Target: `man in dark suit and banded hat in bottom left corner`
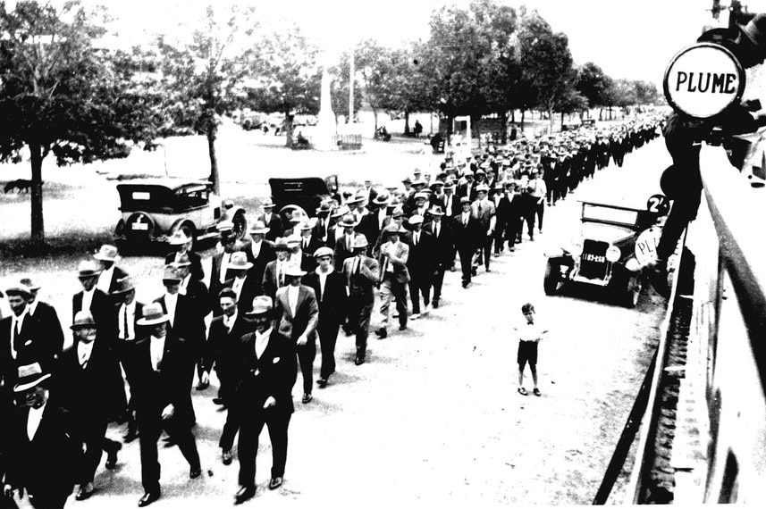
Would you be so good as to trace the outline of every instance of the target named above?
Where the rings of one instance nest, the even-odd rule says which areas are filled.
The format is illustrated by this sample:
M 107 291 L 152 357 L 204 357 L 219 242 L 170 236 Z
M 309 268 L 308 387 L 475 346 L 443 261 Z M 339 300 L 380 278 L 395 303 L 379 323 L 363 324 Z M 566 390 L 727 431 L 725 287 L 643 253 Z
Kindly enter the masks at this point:
M 81 441 L 69 412 L 49 399 L 54 379 L 39 363 L 19 366 L 13 392 L 21 405 L 11 415 L 11 447 L 4 496 L 23 490 L 37 509 L 61 509 L 72 494 Z

